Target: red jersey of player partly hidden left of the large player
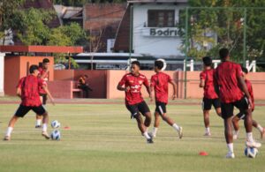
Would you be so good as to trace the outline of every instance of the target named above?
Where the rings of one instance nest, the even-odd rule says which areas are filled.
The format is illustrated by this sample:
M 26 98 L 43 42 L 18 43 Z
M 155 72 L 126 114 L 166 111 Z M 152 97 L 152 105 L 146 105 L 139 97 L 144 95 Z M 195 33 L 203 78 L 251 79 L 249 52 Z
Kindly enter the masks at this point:
M 215 84 L 214 84 L 214 69 L 211 70 L 205 70 L 201 71 L 200 73 L 200 79 L 205 80 L 205 85 L 203 87 L 204 98 L 207 99 L 217 99 L 218 95 L 215 90 Z

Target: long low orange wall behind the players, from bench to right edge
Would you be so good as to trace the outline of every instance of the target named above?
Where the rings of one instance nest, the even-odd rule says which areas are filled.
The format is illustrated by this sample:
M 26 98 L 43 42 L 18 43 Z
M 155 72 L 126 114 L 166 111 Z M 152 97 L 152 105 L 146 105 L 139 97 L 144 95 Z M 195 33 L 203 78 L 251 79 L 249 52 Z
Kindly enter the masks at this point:
M 185 96 L 184 90 L 184 79 L 185 73 L 183 71 L 164 71 L 168 73 L 172 79 L 177 83 L 177 95 L 179 99 L 183 99 Z M 203 96 L 203 89 L 199 87 L 200 82 L 200 72 L 201 71 L 187 71 L 187 98 L 199 98 Z M 77 80 L 81 74 L 88 75 L 88 82 L 90 86 L 94 89 L 91 93 L 91 98 L 107 98 L 107 99 L 117 99 L 124 98 L 125 93 L 117 90 L 117 83 L 125 75 L 126 71 L 55 71 L 55 79 L 61 79 L 64 81 Z M 154 71 L 141 71 L 142 74 L 146 75 L 148 79 L 155 74 Z M 265 100 L 265 72 L 251 72 L 248 78 L 253 83 L 254 87 L 254 97 L 256 100 Z M 59 86 L 61 85 L 53 85 Z M 66 86 L 66 85 L 65 85 Z M 67 85 L 68 86 L 68 85 Z M 50 86 L 49 86 L 49 89 Z M 69 91 L 68 91 L 69 92 Z M 143 86 L 141 90 L 144 97 L 148 97 L 148 93 Z M 172 95 L 172 86 L 169 86 L 169 96 Z M 69 97 L 69 96 L 68 96 Z

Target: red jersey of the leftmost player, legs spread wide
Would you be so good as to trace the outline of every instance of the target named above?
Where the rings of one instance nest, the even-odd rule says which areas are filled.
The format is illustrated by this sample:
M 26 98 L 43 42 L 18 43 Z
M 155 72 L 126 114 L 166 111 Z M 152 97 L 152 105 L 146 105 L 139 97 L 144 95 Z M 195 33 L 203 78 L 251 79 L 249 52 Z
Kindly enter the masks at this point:
M 41 86 L 43 86 L 43 80 L 33 75 L 20 79 L 17 87 L 21 89 L 21 104 L 28 107 L 40 106 L 42 102 L 39 87 Z

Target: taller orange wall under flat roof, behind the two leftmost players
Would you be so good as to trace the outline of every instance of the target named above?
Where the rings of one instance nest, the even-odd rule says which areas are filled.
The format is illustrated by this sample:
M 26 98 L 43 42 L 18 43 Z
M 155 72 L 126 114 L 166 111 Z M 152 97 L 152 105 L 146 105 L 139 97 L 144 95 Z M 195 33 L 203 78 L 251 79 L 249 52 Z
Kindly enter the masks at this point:
M 32 64 L 39 65 L 43 58 L 49 58 L 49 80 L 54 79 L 52 56 L 5 56 L 4 57 L 4 93 L 16 95 L 16 86 L 19 79 L 27 76 L 27 67 Z M 27 64 L 28 63 L 28 64 Z

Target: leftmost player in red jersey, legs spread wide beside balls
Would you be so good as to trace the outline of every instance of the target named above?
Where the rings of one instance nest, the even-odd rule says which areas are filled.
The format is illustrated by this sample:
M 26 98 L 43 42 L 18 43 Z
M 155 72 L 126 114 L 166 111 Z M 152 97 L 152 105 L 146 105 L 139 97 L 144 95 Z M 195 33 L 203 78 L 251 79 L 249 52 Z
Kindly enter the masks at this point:
M 45 84 L 43 84 L 43 80 L 38 78 L 38 66 L 31 65 L 29 72 L 30 75 L 19 80 L 17 94 L 21 98 L 21 103 L 15 115 L 11 117 L 6 134 L 4 136 L 4 140 L 11 139 L 11 131 L 13 130 L 15 123 L 18 121 L 19 117 L 25 116 L 29 110 L 33 110 L 39 116 L 43 116 L 42 136 L 49 139 L 49 134 L 47 132 L 49 116 L 48 112 L 42 106 L 39 96 L 39 87 L 43 87 L 43 89 L 49 95 L 50 101 L 52 103 L 54 103 L 54 101 L 49 93 L 49 90 L 46 88 Z

